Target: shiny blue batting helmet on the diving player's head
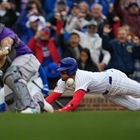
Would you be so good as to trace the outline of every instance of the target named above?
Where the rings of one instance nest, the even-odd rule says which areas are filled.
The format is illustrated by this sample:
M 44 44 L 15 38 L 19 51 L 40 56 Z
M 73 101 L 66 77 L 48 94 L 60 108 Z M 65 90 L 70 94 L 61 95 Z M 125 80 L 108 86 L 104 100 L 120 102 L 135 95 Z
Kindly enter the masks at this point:
M 67 71 L 67 74 L 69 76 L 72 76 L 76 73 L 78 66 L 77 66 L 77 62 L 74 58 L 71 57 L 67 57 L 64 58 L 60 61 L 59 65 L 58 65 L 58 71 Z

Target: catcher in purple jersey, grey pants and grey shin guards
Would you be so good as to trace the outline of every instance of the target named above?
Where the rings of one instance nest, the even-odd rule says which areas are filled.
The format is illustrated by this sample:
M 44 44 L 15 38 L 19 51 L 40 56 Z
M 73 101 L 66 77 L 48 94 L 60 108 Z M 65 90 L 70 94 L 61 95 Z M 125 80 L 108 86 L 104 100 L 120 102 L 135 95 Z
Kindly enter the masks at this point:
M 8 48 L 8 49 L 7 49 Z M 0 23 L 0 70 L 8 105 L 15 102 L 19 112 L 39 113 L 39 104 L 31 97 L 27 83 L 39 69 L 40 63 L 27 45 L 9 28 Z M 1 85 L 3 86 L 3 85 Z

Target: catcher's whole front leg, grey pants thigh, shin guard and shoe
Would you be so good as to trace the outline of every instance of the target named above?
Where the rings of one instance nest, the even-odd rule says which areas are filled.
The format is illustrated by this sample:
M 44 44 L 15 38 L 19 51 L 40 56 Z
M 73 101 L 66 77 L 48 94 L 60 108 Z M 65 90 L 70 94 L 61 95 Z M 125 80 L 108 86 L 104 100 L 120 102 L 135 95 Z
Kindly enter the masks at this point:
M 18 67 L 16 67 L 18 65 Z M 17 110 L 28 107 L 40 112 L 40 107 L 31 99 L 26 83 L 38 71 L 39 62 L 33 55 L 24 55 L 16 58 L 12 66 L 4 75 L 4 82 L 12 89 L 16 98 Z M 19 89 L 19 90 L 18 90 Z

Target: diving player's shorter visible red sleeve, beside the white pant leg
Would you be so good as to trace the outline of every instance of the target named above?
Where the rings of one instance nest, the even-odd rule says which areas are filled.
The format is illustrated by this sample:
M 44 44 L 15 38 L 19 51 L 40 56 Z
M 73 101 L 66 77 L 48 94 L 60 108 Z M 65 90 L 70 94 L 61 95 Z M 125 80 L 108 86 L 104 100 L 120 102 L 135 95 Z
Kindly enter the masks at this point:
M 61 95 L 62 95 L 62 93 L 53 92 L 53 93 L 51 93 L 48 97 L 45 98 L 45 101 L 48 102 L 49 104 L 52 104 L 52 103 L 53 103 L 55 100 L 57 100 Z

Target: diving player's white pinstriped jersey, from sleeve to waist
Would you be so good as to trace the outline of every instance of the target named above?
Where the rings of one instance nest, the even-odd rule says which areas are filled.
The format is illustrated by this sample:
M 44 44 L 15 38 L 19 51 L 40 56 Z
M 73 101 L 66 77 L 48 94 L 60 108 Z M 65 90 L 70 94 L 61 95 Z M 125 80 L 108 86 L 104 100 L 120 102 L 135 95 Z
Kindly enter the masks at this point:
M 57 83 L 54 92 L 64 93 L 65 90 L 77 91 L 79 89 L 85 92 L 101 94 L 106 91 L 109 84 L 109 76 L 107 72 L 88 72 L 83 70 L 77 70 L 74 85 L 68 87 L 65 81 L 60 79 Z

